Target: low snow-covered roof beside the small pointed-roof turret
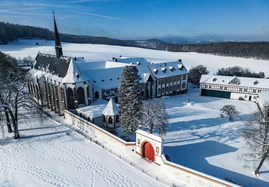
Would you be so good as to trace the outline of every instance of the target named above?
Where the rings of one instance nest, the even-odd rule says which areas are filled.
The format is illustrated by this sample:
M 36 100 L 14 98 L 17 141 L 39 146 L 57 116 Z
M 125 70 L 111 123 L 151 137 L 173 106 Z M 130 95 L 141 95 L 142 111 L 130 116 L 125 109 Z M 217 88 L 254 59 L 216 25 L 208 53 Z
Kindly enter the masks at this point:
M 96 117 L 102 116 L 102 111 L 106 108 L 108 101 L 104 99 L 98 99 L 96 101 L 92 101 L 90 105 L 84 105 L 76 109 L 79 113 L 83 113 L 84 115 L 94 119 Z

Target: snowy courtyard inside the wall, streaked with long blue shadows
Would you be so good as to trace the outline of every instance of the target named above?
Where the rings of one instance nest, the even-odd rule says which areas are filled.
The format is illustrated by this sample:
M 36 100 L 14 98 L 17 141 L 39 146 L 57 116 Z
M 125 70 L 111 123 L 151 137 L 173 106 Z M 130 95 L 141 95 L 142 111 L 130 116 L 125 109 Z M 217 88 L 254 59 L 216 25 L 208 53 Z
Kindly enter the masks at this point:
M 199 96 L 199 89 L 192 88 L 186 94 L 159 99 L 171 115 L 170 132 L 163 138 L 164 153 L 173 162 L 220 179 L 232 178 L 241 186 L 269 186 L 268 162 L 255 176 L 252 163 L 244 169 L 244 162 L 237 160 L 237 155 L 247 152 L 239 129 L 258 109 L 256 103 Z M 234 121 L 220 117 L 219 109 L 226 104 L 236 105 L 241 113 Z

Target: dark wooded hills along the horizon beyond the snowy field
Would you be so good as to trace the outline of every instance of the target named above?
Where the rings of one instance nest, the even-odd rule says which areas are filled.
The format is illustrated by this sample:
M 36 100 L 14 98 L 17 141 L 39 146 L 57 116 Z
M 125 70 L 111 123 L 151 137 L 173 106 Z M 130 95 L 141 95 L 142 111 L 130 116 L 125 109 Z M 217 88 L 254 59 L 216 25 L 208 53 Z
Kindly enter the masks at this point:
M 108 37 L 94 37 L 60 33 L 60 40 L 69 43 L 107 44 L 131 46 L 171 52 L 198 52 L 218 56 L 233 56 L 269 60 L 269 42 L 231 42 L 224 40 L 177 40 L 173 43 L 159 39 L 149 40 L 118 40 Z M 0 22 L 0 44 L 7 44 L 16 39 L 51 39 L 54 32 L 49 29 Z M 170 38 L 174 40 L 177 38 Z

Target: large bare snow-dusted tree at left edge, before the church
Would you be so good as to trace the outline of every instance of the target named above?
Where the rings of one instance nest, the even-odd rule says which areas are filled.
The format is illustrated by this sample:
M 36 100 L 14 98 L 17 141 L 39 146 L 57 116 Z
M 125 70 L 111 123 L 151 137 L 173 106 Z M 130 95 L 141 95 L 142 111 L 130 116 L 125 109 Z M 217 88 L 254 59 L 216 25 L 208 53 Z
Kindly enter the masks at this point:
M 1 70 L 1 69 L 0 69 Z M 0 74 L 0 112 L 5 112 L 5 120 L 0 121 L 0 125 L 9 123 L 9 117 L 14 129 L 14 138 L 20 137 L 18 130 L 18 117 L 26 119 L 19 109 L 26 109 L 33 117 L 38 117 L 42 121 L 45 114 L 42 107 L 38 104 L 36 96 L 39 92 L 29 93 L 28 84 L 34 82 L 34 78 L 25 75 L 25 72 L 19 69 L 13 71 L 1 71 Z M 3 129 L 3 128 L 1 128 Z M 2 134 L 3 134 L 2 130 Z

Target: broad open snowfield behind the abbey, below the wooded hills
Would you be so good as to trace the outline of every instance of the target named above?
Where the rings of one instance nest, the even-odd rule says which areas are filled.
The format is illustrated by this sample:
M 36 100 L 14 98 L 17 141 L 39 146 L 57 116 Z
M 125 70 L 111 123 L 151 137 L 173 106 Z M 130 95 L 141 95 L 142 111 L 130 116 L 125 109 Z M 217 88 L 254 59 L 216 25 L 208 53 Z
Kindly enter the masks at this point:
M 35 43 L 38 42 L 39 45 Z M 54 40 L 18 40 L 10 42 L 7 45 L 0 45 L 0 51 L 9 53 L 11 56 L 23 58 L 29 54 L 33 57 L 37 52 L 47 54 L 55 54 Z M 269 61 L 254 60 L 246 58 L 234 58 L 214 56 L 207 54 L 198 54 L 195 52 L 168 52 L 160 50 L 151 50 L 135 47 L 109 46 L 101 44 L 74 44 L 62 42 L 64 56 L 84 57 L 86 62 L 112 60 L 112 57 L 144 57 L 151 62 L 172 62 L 182 59 L 187 69 L 203 64 L 207 66 L 210 74 L 217 72 L 219 68 L 227 68 L 230 66 L 243 66 L 250 68 L 252 71 L 263 71 L 266 77 L 269 76 Z

